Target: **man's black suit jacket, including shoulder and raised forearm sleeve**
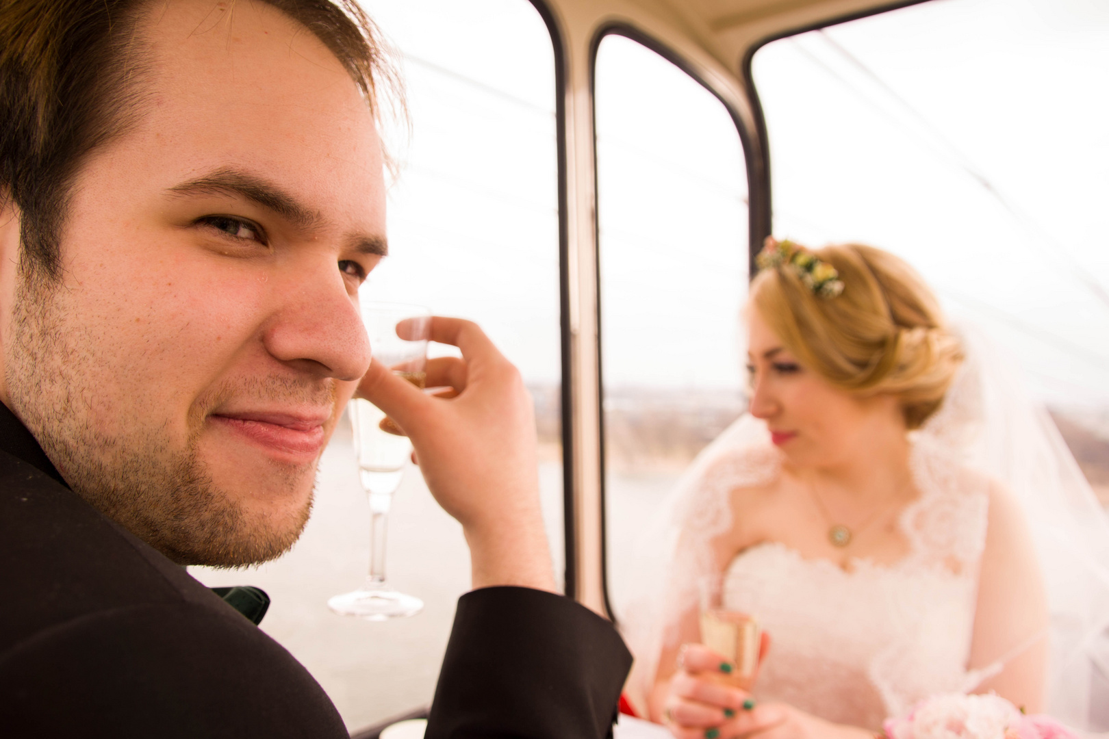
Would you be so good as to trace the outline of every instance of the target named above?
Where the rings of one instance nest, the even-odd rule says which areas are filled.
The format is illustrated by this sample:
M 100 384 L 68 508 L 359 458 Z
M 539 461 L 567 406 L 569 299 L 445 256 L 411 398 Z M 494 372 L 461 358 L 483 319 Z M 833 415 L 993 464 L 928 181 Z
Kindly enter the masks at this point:
M 612 626 L 568 598 L 474 591 L 427 737 L 604 737 L 630 664 Z M 69 490 L 0 404 L 0 736 L 347 732 L 288 651 Z

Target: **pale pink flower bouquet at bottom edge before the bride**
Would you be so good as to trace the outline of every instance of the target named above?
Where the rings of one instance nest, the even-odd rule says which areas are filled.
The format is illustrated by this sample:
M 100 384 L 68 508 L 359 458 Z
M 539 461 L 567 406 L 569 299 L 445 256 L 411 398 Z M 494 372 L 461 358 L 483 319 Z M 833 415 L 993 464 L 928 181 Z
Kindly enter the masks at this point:
M 889 739 L 1078 739 L 1051 717 L 1025 716 L 995 695 L 934 696 L 884 728 Z

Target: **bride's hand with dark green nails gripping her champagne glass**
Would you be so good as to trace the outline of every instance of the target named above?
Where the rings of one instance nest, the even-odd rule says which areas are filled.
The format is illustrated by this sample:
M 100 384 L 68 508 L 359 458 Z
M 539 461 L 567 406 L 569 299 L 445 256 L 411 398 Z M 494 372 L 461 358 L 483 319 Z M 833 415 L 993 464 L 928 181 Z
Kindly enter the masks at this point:
M 785 720 L 776 707 L 755 706 L 751 694 L 722 682 L 733 665 L 701 644 L 682 647 L 670 678 L 663 719 L 679 739 L 725 739 L 769 731 Z

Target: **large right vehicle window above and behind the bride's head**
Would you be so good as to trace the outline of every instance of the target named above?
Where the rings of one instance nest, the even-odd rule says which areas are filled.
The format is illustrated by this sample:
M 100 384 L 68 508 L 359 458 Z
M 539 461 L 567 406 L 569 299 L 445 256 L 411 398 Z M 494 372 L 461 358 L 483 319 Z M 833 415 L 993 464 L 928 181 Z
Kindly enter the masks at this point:
M 774 233 L 917 267 L 1109 502 L 1109 6 L 926 2 L 767 44 Z

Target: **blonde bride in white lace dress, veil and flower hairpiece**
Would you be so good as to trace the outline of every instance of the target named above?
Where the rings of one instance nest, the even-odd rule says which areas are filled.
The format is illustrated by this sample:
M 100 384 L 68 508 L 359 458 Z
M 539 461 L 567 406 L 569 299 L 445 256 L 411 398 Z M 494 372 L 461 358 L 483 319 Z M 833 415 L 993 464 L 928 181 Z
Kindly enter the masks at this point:
M 1058 432 L 897 257 L 767 239 L 759 263 L 750 413 L 644 537 L 667 565 L 624 609 L 631 697 L 709 739 L 871 739 L 944 692 L 1085 728 L 1109 526 Z M 714 573 L 770 635 L 751 695 L 696 644 Z

